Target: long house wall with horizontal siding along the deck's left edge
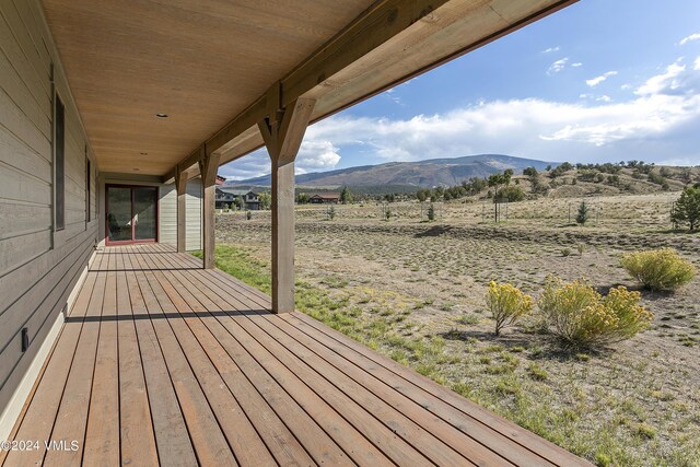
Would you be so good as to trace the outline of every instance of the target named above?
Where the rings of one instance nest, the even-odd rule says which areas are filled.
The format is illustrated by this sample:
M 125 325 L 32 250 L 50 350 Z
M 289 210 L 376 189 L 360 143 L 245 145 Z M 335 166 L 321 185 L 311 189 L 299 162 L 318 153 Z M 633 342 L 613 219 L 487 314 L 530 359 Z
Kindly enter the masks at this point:
M 54 86 L 66 106 L 66 225 L 57 232 L 52 213 Z M 93 172 L 90 221 L 86 156 L 92 160 Z M 61 319 L 69 294 L 94 250 L 97 208 L 97 164 L 42 7 L 38 0 L 3 0 L 0 2 L 0 434 L 12 419 L 12 410 L 18 405 L 22 407 L 22 388 L 32 372 L 38 371 L 36 365 L 40 366 L 51 343 L 45 341 L 51 329 L 57 329 L 55 324 Z M 27 328 L 30 340 L 25 352 L 23 328 Z

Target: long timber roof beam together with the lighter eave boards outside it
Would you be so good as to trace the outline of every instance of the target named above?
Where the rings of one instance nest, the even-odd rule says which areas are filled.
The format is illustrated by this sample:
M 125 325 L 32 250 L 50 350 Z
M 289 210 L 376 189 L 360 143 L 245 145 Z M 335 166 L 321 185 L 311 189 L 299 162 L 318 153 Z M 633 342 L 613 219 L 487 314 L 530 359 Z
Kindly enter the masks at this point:
M 377 1 L 207 140 L 206 153 L 221 154 L 222 164 L 238 159 L 264 144 L 257 124 L 299 97 L 317 100 L 313 124 L 576 1 Z M 491 16 L 489 21 L 493 22 L 493 27 L 490 32 L 472 36 L 458 46 L 442 47 L 441 40 L 453 37 L 450 43 L 458 43 L 454 37 L 460 34 L 468 36 L 469 27 L 479 26 L 478 23 L 471 25 L 467 16 L 477 10 L 481 13 L 487 11 Z M 407 31 L 409 27 L 410 32 Z M 430 47 L 420 56 L 422 47 L 419 44 L 422 40 L 428 40 Z M 378 50 L 382 51 L 377 54 Z M 413 54 L 419 50 L 419 56 L 411 56 L 410 50 Z M 394 68 L 382 77 L 382 67 L 388 67 L 388 62 Z M 400 69 L 396 68 L 397 63 Z M 187 168 L 194 161 L 190 154 L 180 161 L 179 166 Z M 175 171 L 173 167 L 165 179 L 171 179 L 168 175 Z

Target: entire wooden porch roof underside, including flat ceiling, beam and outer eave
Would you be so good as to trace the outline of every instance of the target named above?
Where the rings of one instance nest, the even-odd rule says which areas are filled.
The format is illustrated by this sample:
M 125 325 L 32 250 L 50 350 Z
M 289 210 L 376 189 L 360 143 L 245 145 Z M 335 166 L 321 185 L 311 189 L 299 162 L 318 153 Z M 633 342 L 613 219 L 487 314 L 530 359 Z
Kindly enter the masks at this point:
M 574 1 L 43 0 L 100 170 L 165 179 L 259 148 L 275 83 L 318 120 Z

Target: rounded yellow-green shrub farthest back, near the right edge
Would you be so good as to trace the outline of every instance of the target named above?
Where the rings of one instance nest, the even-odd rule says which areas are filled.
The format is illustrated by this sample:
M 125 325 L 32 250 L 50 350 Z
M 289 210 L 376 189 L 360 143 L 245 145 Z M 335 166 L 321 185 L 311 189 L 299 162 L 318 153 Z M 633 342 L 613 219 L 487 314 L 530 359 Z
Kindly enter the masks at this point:
M 696 275 L 696 267 L 673 248 L 629 253 L 620 264 L 642 285 L 656 291 L 676 290 Z

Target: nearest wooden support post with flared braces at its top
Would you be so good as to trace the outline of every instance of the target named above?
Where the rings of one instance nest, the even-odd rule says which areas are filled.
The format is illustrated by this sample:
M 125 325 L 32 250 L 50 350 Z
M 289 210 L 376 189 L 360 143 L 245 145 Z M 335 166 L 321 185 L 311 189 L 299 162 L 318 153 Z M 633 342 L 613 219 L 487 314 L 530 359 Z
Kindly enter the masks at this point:
M 272 311 L 294 311 L 294 160 L 315 101 L 299 98 L 258 124 L 272 162 Z

